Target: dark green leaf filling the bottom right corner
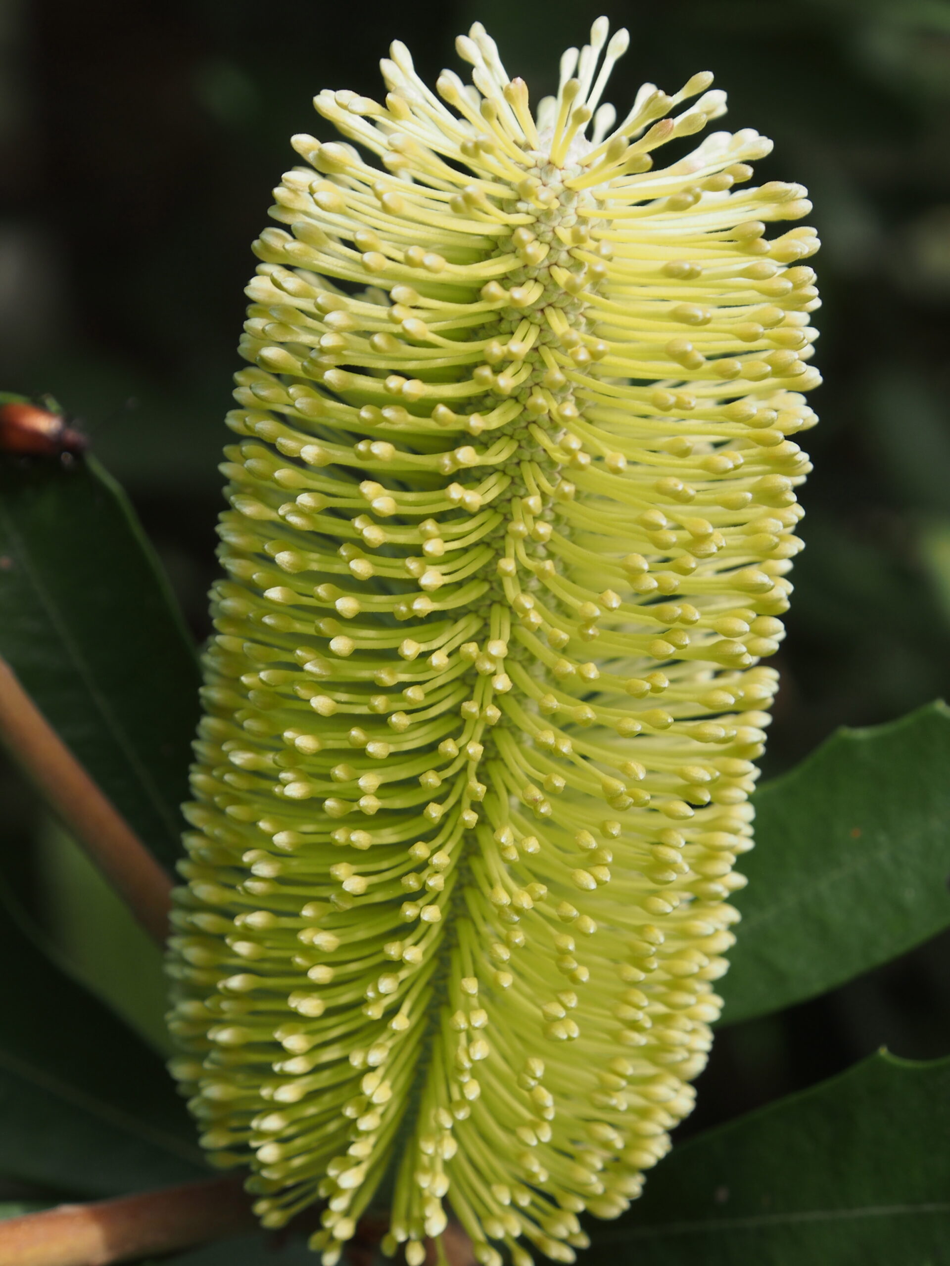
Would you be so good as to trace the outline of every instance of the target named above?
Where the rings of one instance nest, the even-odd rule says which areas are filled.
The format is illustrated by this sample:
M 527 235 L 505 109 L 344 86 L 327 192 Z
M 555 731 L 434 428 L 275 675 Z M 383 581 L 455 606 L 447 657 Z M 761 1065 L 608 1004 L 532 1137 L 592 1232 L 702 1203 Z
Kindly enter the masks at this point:
M 589 1229 L 618 1266 L 939 1266 L 949 1137 L 950 1060 L 875 1055 L 674 1147 Z

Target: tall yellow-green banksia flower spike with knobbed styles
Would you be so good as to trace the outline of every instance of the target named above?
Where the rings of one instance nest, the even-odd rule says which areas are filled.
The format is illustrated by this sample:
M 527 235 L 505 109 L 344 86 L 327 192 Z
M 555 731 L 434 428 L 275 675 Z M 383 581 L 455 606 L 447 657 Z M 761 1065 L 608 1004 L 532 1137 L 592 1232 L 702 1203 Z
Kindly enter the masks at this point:
M 709 1050 L 801 542 L 817 306 L 712 76 L 532 115 L 480 25 L 294 138 L 228 423 L 175 1071 L 266 1225 L 555 1261 Z M 603 58 L 602 58 L 603 54 Z M 664 146 L 671 143 L 666 153 Z M 494 1243 L 493 1243 L 494 1242 Z

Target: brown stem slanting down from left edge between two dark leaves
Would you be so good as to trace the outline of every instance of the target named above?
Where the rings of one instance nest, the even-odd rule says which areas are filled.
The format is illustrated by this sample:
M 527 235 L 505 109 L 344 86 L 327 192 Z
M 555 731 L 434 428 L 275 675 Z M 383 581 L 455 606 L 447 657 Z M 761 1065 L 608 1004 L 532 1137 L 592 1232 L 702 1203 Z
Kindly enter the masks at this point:
M 0 742 L 160 944 L 171 879 L 0 660 Z

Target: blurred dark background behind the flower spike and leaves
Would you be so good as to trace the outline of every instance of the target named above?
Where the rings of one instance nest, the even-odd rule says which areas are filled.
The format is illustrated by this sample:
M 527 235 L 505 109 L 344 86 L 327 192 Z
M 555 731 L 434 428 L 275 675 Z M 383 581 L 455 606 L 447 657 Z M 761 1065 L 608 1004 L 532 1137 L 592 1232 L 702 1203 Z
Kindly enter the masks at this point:
M 0 387 L 49 391 L 82 419 L 204 637 L 250 243 L 295 161 L 290 134 L 326 133 L 312 96 L 376 95 L 394 38 L 432 81 L 479 19 L 537 100 L 600 11 L 632 35 L 621 108 L 642 80 L 675 91 L 713 70 L 730 94 L 718 127 L 773 137 L 759 179 L 801 181 L 814 201 L 826 385 L 775 661 L 774 775 L 837 725 L 950 694 L 950 3 L 0 0 Z M 133 933 L 95 876 L 9 772 L 0 794 L 22 899 L 157 1034 L 157 956 L 117 953 Z M 726 1031 L 687 1128 L 883 1043 L 950 1053 L 949 961 L 939 938 Z

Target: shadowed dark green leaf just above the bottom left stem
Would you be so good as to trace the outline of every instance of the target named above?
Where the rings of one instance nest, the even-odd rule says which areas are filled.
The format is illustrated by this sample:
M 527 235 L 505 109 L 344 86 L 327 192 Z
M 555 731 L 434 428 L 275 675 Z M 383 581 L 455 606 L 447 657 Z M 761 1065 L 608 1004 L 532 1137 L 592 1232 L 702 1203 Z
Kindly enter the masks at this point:
M 84 1199 L 206 1176 L 161 1058 L 19 919 L 0 909 L 0 1174 Z

